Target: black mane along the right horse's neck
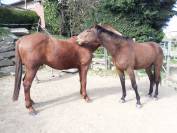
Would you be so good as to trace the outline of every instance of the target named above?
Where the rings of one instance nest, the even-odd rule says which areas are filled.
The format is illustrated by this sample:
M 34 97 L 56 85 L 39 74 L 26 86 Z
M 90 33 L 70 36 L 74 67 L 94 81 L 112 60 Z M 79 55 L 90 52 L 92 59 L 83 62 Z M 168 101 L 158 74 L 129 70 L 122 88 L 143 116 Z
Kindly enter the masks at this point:
M 110 30 L 105 29 L 104 27 L 100 26 L 100 25 L 96 25 L 95 28 L 97 29 L 98 33 L 104 32 L 106 34 L 108 34 L 109 36 L 111 36 L 114 39 L 118 39 L 118 40 L 132 40 L 132 38 L 127 37 L 127 36 L 120 36 Z M 132 40 L 133 41 L 133 40 Z

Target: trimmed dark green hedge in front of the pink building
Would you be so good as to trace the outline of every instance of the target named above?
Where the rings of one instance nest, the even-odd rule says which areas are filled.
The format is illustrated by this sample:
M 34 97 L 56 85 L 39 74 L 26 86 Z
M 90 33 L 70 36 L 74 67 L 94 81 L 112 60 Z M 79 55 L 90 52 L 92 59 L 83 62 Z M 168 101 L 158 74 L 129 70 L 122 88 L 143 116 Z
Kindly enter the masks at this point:
M 13 8 L 0 8 L 1 24 L 34 24 L 39 17 L 34 11 Z

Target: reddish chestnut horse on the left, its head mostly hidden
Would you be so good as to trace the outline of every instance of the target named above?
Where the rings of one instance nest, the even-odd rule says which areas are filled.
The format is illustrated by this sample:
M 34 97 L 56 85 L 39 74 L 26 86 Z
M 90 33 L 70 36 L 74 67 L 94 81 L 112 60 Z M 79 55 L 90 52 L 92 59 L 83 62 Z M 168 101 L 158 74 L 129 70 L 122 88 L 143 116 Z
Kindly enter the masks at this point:
M 92 53 L 99 44 L 77 44 L 77 37 L 68 40 L 57 40 L 43 33 L 24 36 L 16 42 L 16 71 L 13 100 L 17 100 L 20 91 L 22 64 L 25 66 L 23 78 L 25 104 L 31 114 L 35 114 L 34 103 L 30 96 L 32 81 L 38 68 L 46 64 L 54 69 L 78 68 L 80 75 L 80 94 L 88 101 L 86 76 L 92 60 Z

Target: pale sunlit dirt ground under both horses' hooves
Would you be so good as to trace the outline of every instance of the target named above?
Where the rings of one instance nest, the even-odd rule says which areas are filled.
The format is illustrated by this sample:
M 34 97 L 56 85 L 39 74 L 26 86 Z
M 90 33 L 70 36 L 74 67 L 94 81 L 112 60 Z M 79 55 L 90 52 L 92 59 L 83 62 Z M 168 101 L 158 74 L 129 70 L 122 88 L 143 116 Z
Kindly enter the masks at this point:
M 55 72 L 55 74 L 57 74 Z M 64 74 L 50 80 L 48 70 L 38 73 L 31 95 L 36 116 L 24 106 L 23 88 L 12 102 L 14 76 L 0 78 L 0 133 L 176 133 L 177 91 L 162 84 L 159 100 L 147 97 L 149 81 L 137 80 L 143 107 L 135 106 L 135 94 L 126 80 L 126 103 L 120 103 L 121 85 L 116 76 L 89 74 L 86 103 L 79 95 L 78 74 Z

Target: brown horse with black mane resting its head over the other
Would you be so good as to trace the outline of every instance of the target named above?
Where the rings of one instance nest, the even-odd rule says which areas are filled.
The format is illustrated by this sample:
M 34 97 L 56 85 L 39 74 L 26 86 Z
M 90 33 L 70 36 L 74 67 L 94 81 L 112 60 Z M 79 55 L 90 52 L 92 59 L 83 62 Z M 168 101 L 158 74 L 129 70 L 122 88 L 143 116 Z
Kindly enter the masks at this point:
M 158 85 L 160 82 L 160 70 L 163 64 L 163 51 L 157 43 L 135 43 L 132 39 L 115 34 L 100 25 L 96 25 L 79 34 L 78 42 L 80 45 L 82 43 L 100 43 L 111 54 L 122 85 L 122 102 L 125 102 L 126 97 L 124 72 L 127 71 L 136 94 L 137 107 L 141 107 L 134 69 L 146 70 L 150 80 L 149 95 L 152 95 L 153 86 L 156 84 L 154 97 L 157 98 Z

